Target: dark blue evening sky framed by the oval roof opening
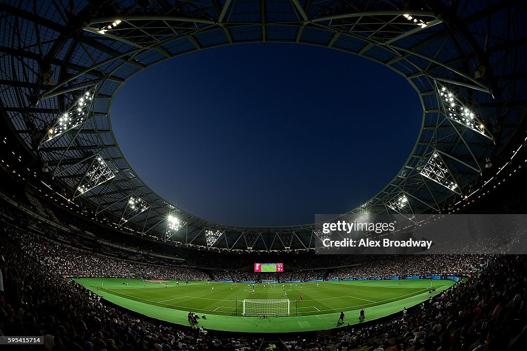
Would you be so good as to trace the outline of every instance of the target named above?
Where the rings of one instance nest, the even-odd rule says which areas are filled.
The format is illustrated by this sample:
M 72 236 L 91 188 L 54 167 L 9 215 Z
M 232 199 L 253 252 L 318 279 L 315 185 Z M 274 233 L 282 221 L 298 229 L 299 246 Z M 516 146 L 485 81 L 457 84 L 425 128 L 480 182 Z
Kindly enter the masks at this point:
M 401 168 L 422 108 L 403 77 L 352 54 L 240 44 L 127 82 L 112 126 L 139 176 L 219 223 L 281 226 L 344 213 Z

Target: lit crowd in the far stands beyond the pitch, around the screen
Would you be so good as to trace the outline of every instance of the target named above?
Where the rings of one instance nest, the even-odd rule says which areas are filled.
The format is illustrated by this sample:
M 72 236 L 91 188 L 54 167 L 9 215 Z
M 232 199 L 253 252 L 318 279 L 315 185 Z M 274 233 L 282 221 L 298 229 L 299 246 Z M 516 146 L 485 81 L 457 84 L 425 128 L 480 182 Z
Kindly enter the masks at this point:
M 218 265 L 210 264 L 215 269 L 197 269 L 198 261 L 186 261 L 154 256 L 154 253 L 139 253 L 134 249 L 124 249 L 106 245 L 105 242 L 90 239 L 85 236 L 75 236 L 71 233 L 61 232 L 51 227 L 47 223 L 27 216 L 27 214 L 13 210 L 10 206 L 1 206 L 0 213 L 4 218 L 13 223 L 26 225 L 38 235 L 52 239 L 48 245 L 49 265 L 57 273 L 66 276 L 110 276 L 110 277 L 155 277 L 158 279 L 192 279 L 192 280 L 234 280 L 234 281 L 261 281 L 261 280 L 317 280 L 317 279 L 346 279 L 346 278 L 367 278 L 367 277 L 392 277 L 422 274 L 473 274 L 482 269 L 486 264 L 485 260 L 489 256 L 484 255 L 317 255 L 313 259 L 313 254 L 291 255 L 292 262 L 306 262 L 304 267 L 309 267 L 309 262 L 316 266 L 336 265 L 336 259 L 340 256 L 349 256 L 349 259 L 341 260 L 338 265 L 352 265 L 338 269 L 318 269 L 318 270 L 296 270 L 287 262 L 285 272 L 253 272 L 252 264 L 249 270 L 227 270 L 225 262 L 239 259 L 241 256 L 222 255 L 217 258 L 221 261 L 222 270 L 218 270 Z M 21 227 L 23 228 L 23 226 Z M 69 236 L 67 234 L 70 234 Z M 75 246 L 75 247 L 73 247 Z M 193 259 L 204 257 L 216 257 L 206 255 L 202 251 L 196 251 Z M 144 252 L 144 251 L 143 251 Z M 216 255 L 221 255 L 216 253 Z M 338 257 L 336 257 L 338 256 Z M 303 258 L 301 258 L 303 257 Z M 280 258 L 280 257 L 277 257 Z M 281 257 L 284 259 L 284 257 Z M 209 258 L 210 260 L 210 258 Z M 254 258 L 252 258 L 254 261 Z M 250 261 L 249 261 L 250 262 Z M 360 263 L 357 263 L 360 262 Z M 247 262 L 245 263 L 247 264 Z M 228 265 L 229 266 L 229 265 Z M 196 267 L 196 268 L 190 268 Z M 244 267 L 247 269 L 247 266 Z

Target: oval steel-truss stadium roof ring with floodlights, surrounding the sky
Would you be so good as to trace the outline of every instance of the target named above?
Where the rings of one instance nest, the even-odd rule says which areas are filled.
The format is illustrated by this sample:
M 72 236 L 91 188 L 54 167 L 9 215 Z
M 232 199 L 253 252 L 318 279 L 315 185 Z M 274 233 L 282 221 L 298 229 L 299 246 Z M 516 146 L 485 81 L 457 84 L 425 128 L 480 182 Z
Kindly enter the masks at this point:
M 234 43 L 304 43 L 404 76 L 423 105 L 421 132 L 392 181 L 350 216 L 445 212 L 486 164 L 510 157 L 525 115 L 522 1 L 6 0 L 0 11 L 3 113 L 54 187 L 117 227 L 183 245 L 309 249 L 320 228 L 212 223 L 141 180 L 110 109 L 127 80 L 163 60 Z

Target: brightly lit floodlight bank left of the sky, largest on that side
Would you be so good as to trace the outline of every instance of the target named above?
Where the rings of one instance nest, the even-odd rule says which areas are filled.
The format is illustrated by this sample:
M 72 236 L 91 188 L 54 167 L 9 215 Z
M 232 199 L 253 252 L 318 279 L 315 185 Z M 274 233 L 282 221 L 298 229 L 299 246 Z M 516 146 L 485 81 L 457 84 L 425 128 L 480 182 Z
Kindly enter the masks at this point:
M 83 124 L 89 117 L 93 103 L 93 92 L 95 89 L 81 93 L 63 112 L 59 113 L 51 126 L 47 129 L 41 145 L 60 137 L 64 133 Z

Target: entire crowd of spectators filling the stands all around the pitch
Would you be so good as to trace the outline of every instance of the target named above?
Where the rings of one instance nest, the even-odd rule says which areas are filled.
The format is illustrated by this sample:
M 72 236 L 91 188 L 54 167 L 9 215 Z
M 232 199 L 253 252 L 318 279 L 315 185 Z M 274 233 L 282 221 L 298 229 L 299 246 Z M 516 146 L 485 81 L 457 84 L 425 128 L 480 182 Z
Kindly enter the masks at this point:
M 74 281 L 62 278 L 63 274 L 137 276 L 140 273 L 162 279 L 207 279 L 203 271 L 94 255 L 46 238 L 50 229 L 44 224 L 32 223 L 31 229 L 17 228 L 13 223 L 26 222 L 27 218 L 16 211 L 0 214 L 5 227 L 0 231 L 0 287 L 4 290 L 0 291 L 0 333 L 42 335 L 46 350 L 248 351 L 261 347 L 261 339 L 218 337 L 199 329 L 184 330 L 130 316 L 106 305 L 99 296 Z M 113 248 L 109 251 L 116 253 Z M 329 278 L 362 277 L 372 272 L 376 276 L 430 274 L 437 270 L 471 273 L 473 278 L 458 282 L 429 302 L 383 323 L 345 327 L 334 336 L 290 338 L 284 340 L 283 347 L 288 351 L 343 351 L 359 346 L 377 351 L 412 347 L 490 351 L 525 345 L 524 256 L 369 256 L 363 257 L 359 266 L 330 272 Z M 255 274 L 224 270 L 214 274 L 306 280 L 325 272 Z

